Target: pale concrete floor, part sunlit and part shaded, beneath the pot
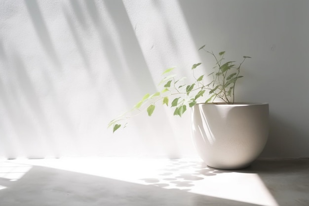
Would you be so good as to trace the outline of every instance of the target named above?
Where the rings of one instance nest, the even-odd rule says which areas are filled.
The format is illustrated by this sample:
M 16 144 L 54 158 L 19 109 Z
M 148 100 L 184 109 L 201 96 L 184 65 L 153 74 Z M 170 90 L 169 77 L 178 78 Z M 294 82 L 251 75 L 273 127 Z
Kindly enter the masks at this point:
M 0 206 L 309 206 L 309 159 L 243 170 L 198 158 L 1 161 Z

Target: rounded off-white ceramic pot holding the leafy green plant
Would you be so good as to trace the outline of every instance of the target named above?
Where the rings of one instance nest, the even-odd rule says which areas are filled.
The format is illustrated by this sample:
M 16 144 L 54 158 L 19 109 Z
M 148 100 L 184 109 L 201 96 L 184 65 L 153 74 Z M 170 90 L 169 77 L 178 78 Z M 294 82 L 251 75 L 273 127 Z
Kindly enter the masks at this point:
M 210 167 L 240 169 L 263 151 L 269 133 L 267 103 L 201 103 L 192 109 L 193 142 Z

